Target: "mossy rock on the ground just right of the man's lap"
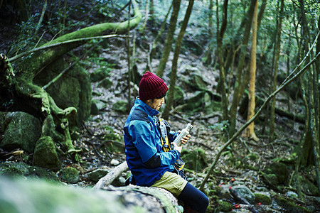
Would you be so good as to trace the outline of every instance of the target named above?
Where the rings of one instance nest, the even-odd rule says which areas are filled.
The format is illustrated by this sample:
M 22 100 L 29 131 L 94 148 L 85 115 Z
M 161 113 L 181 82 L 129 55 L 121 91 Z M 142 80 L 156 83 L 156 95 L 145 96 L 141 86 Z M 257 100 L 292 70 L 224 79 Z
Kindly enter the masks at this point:
M 201 171 L 207 166 L 206 153 L 202 148 L 196 148 L 193 151 L 183 149 L 181 158 L 189 170 Z

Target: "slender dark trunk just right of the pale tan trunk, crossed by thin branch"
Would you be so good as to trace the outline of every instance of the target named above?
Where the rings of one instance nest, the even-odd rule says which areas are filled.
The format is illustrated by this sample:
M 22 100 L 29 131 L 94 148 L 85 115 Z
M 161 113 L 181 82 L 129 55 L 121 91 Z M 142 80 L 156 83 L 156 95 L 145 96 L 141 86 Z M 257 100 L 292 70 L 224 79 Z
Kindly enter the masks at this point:
M 284 9 L 284 0 L 281 0 L 280 13 L 279 13 L 279 24 L 277 24 L 277 41 L 276 41 L 276 55 L 274 58 L 274 72 L 273 72 L 273 81 L 272 81 L 272 90 L 274 91 L 277 88 L 277 75 L 279 67 L 279 55 L 280 55 L 280 43 L 281 43 L 281 29 L 282 29 L 282 16 Z M 272 99 L 271 111 L 270 111 L 270 138 L 269 142 L 271 143 L 274 140 L 274 107 L 275 107 L 275 97 Z

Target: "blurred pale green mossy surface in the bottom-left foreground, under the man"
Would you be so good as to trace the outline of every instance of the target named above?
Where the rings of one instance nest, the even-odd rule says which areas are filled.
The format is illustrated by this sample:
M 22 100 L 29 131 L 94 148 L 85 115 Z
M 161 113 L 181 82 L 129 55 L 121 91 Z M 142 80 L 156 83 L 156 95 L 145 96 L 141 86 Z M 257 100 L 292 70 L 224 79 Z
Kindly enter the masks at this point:
M 152 198 L 156 200 L 156 198 L 150 195 L 147 197 L 147 195 L 142 193 L 134 195 L 133 192 L 124 192 L 119 195 L 119 192 L 84 189 L 41 180 L 21 180 L 0 177 L 1 212 L 149 212 L 148 209 L 143 206 L 143 204 L 146 206 L 145 203 L 140 202 L 139 205 L 137 202 L 129 202 L 130 196 L 131 201 L 139 200 L 139 196 L 144 196 L 144 200 L 151 200 Z M 166 201 L 170 204 L 167 198 Z M 155 202 L 153 202 L 153 204 L 154 203 Z M 158 203 L 160 205 L 160 202 Z M 167 207 L 167 209 L 169 208 L 170 206 Z M 167 212 L 173 212 L 172 209 L 174 209 L 174 207 L 171 205 L 171 211 L 168 210 Z M 161 211 L 161 207 L 159 211 Z

